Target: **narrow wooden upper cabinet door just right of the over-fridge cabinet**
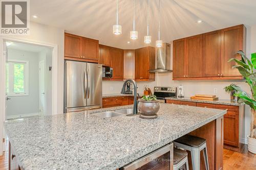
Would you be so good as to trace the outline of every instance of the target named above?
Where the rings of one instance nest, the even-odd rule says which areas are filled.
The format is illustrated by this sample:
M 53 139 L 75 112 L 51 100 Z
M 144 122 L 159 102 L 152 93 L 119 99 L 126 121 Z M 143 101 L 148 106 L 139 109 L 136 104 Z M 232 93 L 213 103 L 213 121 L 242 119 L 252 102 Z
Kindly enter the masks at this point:
M 99 64 L 110 66 L 110 47 L 99 44 Z

